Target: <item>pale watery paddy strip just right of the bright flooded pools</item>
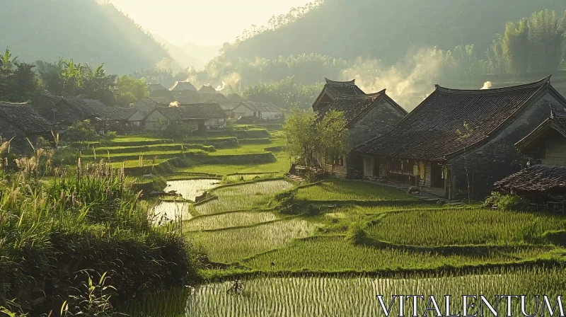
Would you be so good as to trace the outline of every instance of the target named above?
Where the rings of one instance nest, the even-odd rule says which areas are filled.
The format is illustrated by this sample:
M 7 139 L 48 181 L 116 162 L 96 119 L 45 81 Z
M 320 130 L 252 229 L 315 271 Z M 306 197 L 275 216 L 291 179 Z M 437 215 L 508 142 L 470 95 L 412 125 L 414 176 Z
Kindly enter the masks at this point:
M 231 185 L 214 190 L 218 199 L 199 204 L 195 208 L 199 214 L 214 214 L 216 212 L 229 212 L 254 207 L 274 195 L 276 192 L 289 190 L 293 187 L 286 180 L 267 180 L 265 182 Z

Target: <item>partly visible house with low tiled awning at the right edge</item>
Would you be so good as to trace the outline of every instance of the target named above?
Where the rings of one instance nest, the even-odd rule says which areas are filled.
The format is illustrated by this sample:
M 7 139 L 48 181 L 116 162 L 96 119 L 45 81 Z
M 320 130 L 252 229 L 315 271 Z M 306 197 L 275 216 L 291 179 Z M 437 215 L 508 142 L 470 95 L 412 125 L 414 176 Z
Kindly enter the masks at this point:
M 566 112 L 551 109 L 550 117 L 515 146 L 525 168 L 497 181 L 495 188 L 536 207 L 566 212 Z

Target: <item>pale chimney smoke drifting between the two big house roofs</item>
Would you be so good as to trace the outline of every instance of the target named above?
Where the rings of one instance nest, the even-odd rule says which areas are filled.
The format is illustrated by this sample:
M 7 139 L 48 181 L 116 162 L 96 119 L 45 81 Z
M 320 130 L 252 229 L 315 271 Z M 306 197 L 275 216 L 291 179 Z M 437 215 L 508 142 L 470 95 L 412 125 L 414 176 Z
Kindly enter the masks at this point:
M 386 67 L 377 59 L 358 58 L 353 67 L 342 71 L 342 79 L 356 79 L 365 93 L 385 88 L 395 102 L 405 110 L 412 110 L 434 91 L 443 59 L 444 54 L 436 48 L 407 54 L 393 67 Z

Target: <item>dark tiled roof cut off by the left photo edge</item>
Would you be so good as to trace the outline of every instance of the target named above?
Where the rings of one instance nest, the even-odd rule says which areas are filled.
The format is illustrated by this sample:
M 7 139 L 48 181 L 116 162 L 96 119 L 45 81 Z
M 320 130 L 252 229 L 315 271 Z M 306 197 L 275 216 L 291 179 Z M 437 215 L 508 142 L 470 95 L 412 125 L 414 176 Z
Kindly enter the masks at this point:
M 50 122 L 25 103 L 0 102 L 0 119 L 9 122 L 25 133 L 35 134 L 51 131 Z

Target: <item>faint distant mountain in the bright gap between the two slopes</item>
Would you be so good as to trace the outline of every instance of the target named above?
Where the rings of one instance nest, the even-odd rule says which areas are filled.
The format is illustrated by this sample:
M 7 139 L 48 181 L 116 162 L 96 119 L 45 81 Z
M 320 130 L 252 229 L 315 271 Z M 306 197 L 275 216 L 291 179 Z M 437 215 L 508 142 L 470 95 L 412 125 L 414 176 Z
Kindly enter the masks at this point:
M 210 59 L 218 54 L 218 51 L 222 47 L 221 45 L 203 46 L 192 43 L 178 46 L 157 34 L 154 34 L 154 38 L 165 47 L 175 60 L 177 66 L 182 69 L 186 69 L 187 67 L 202 69 Z

